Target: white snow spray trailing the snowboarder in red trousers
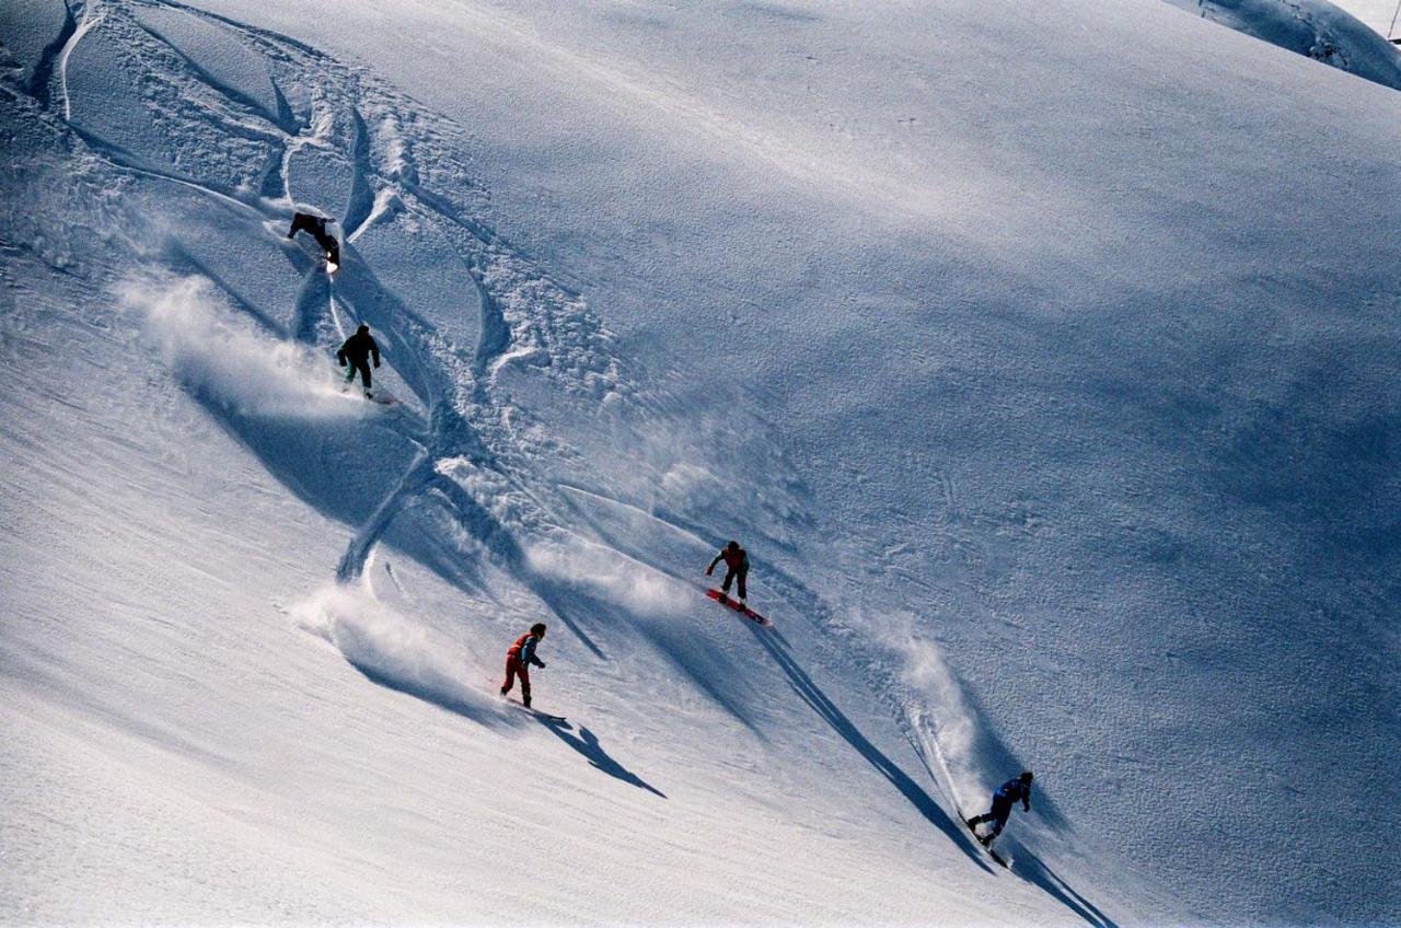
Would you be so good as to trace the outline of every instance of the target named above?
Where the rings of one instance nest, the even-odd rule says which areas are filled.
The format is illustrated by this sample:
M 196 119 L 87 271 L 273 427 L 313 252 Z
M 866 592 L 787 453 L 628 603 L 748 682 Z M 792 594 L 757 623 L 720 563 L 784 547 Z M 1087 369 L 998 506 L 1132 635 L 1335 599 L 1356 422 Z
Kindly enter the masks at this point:
M 364 586 L 321 589 L 291 614 L 297 625 L 335 645 L 356 670 L 380 685 L 482 725 L 509 721 L 499 700 L 462 683 L 486 680 L 485 669 L 453 642 L 378 601 Z

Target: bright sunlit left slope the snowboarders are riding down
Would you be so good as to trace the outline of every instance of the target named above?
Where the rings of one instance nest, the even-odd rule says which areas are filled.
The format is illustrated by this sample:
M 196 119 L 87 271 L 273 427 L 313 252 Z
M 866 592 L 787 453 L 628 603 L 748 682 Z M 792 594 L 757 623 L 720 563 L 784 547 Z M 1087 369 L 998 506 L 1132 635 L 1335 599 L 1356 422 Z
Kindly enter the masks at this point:
M 792 677 L 759 673 L 741 659 L 755 648 L 751 634 L 693 589 L 664 575 L 654 590 L 629 585 L 626 572 L 646 569 L 551 526 L 544 510 L 563 496 L 542 502 L 531 495 L 541 488 L 510 485 L 482 436 L 527 457 L 535 439 L 523 407 L 497 421 L 488 385 L 474 385 L 483 371 L 535 366 L 581 404 L 626 402 L 607 334 L 587 317 L 580 324 L 577 300 L 531 276 L 490 233 L 464 234 L 447 203 L 425 206 L 412 179 L 394 181 L 398 203 L 381 198 L 350 234 L 332 296 L 303 251 L 277 244 L 268 220 L 286 206 L 254 192 L 269 182 L 240 174 L 294 158 L 228 156 L 252 144 L 240 130 L 266 132 L 228 121 L 226 108 L 242 115 L 252 94 L 223 94 L 230 107 L 207 83 L 213 66 L 184 73 L 174 57 L 149 73 L 198 84 L 182 94 L 144 86 L 126 62 L 167 52 L 123 14 L 106 8 L 91 27 L 106 42 L 69 56 L 70 67 L 106 74 L 109 105 L 80 101 L 95 84 L 63 74 L 71 125 L 95 156 L 66 156 L 63 126 L 8 102 L 7 125 L 24 128 L 18 150 L 28 154 L 8 189 L 27 192 L 24 221 L 39 226 L 7 234 L 27 243 L 7 262 L 21 287 L 7 320 L 25 324 L 8 341 L 27 383 L 6 430 L 15 523 L 6 785 L 7 807 L 22 810 L 7 830 L 8 920 L 490 920 L 506 910 L 532 921 L 817 913 L 852 922 L 936 907 L 964 920 L 1056 918 L 1055 896 L 989 871 L 927 786 L 890 760 L 904 751 L 918 764 L 908 743 L 887 733 L 877 746 L 860 733 L 838 708 L 839 681 L 820 683 L 783 645 L 775 653 Z M 143 125 L 146 93 L 160 94 L 175 128 Z M 360 125 L 385 128 L 378 112 L 361 112 L 363 122 L 349 119 L 349 144 L 326 143 L 319 161 L 354 165 L 350 189 L 368 156 L 346 149 L 394 150 L 392 132 L 373 146 L 353 140 Z M 335 119 L 318 129 L 338 130 Z M 59 168 L 111 185 L 111 212 L 84 216 L 83 184 L 57 174 L 39 182 Z M 329 189 L 333 170 L 312 185 Z M 412 168 L 398 174 L 412 178 Z M 303 199 L 300 175 L 286 177 Z M 84 237 L 64 227 L 84 219 L 99 248 L 78 248 Z M 50 262 L 71 273 L 36 262 L 43 236 L 74 245 L 74 257 Z M 277 248 L 284 259 L 249 275 L 256 251 Z M 462 262 L 468 286 L 454 304 L 427 303 L 441 329 L 378 283 L 371 257 L 391 276 L 396 261 L 443 276 L 453 273 L 447 258 Z M 479 262 L 482 289 L 467 261 Z M 272 280 L 277 272 L 300 278 L 300 289 Z M 441 299 L 443 286 L 412 293 Z M 342 314 L 375 324 L 406 408 L 342 397 L 298 348 L 324 342 Z M 99 376 L 91 363 L 105 367 Z M 317 592 L 338 573 L 360 576 L 381 531 L 430 572 L 394 555 L 392 572 L 380 561 L 371 575 L 382 589 Z M 534 538 L 530 548 L 520 537 Z M 709 554 L 709 541 L 684 537 L 692 561 Z M 62 592 L 34 590 L 25 566 Z M 621 606 L 591 597 L 615 587 Z M 563 622 L 556 667 L 597 659 L 573 685 L 562 674 L 549 697 L 573 707 L 566 726 L 537 726 L 489 695 L 503 642 L 546 603 Z M 591 627 L 572 638 L 570 622 Z M 335 650 L 318 650 L 305 631 Z M 789 695 L 792 681 L 828 718 Z M 824 742 L 860 753 L 786 760 Z M 839 802 L 867 792 L 862 807 Z M 929 855 L 929 816 L 951 858 Z M 842 878 L 867 868 L 880 875 L 867 889 Z M 658 879 L 672 887 L 664 897 Z M 991 901 L 989 879 L 1007 886 Z M 897 885 L 905 889 L 891 903 Z

